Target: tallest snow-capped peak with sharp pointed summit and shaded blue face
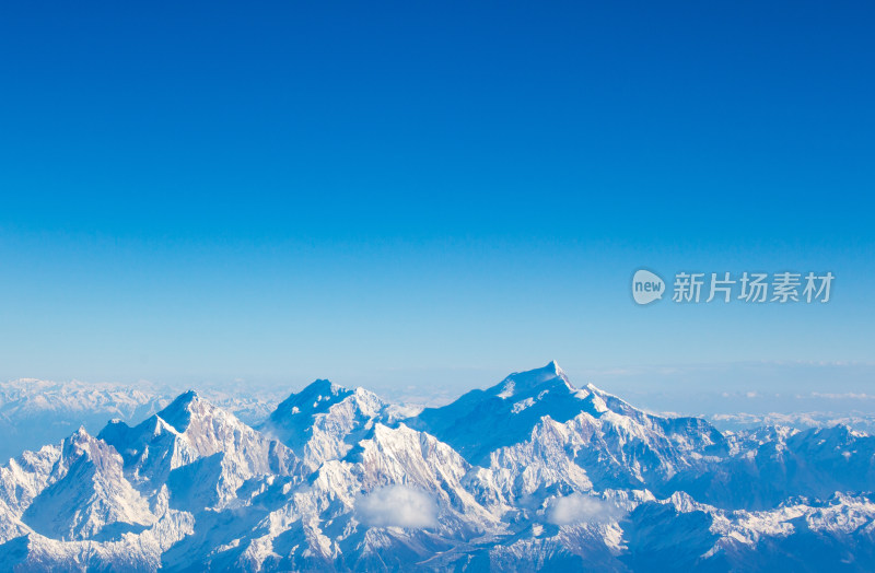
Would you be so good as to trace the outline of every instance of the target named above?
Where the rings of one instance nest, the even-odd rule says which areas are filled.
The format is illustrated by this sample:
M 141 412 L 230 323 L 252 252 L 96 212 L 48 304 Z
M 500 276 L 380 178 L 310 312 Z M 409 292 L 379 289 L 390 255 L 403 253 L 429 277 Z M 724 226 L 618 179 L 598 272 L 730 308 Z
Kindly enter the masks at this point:
M 556 362 L 407 423 L 471 463 L 532 475 L 535 468 L 556 471 L 561 460 L 599 488 L 653 487 L 728 453 L 726 440 L 704 420 L 649 414 L 592 385 L 576 389 Z

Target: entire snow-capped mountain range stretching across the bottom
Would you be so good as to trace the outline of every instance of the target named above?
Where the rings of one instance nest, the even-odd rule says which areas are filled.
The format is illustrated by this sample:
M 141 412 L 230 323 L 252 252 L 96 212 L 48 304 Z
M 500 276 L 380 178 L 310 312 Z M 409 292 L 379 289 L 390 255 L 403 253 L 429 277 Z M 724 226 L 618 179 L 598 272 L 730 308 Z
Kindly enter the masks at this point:
M 875 568 L 875 438 L 722 433 L 556 363 L 416 416 L 316 381 L 248 425 L 194 391 L 0 467 L 0 570 Z

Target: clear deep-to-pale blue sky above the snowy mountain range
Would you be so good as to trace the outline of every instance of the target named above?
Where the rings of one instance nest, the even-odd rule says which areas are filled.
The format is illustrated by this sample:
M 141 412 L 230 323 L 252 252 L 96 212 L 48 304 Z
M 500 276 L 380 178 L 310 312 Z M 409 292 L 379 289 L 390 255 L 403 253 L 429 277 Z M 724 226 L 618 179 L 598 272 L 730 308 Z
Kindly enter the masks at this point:
M 0 378 L 871 364 L 874 11 L 5 4 Z M 642 266 L 837 279 L 642 308 Z

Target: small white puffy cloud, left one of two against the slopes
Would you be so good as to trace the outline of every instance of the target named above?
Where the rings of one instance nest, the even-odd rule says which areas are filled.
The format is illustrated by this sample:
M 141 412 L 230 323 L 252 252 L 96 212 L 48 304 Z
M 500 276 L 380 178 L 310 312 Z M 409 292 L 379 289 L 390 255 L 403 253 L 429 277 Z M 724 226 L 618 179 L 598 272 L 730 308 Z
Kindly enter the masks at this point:
M 355 511 L 373 527 L 421 529 L 438 525 L 438 505 L 427 493 L 405 486 L 386 486 L 360 498 Z

